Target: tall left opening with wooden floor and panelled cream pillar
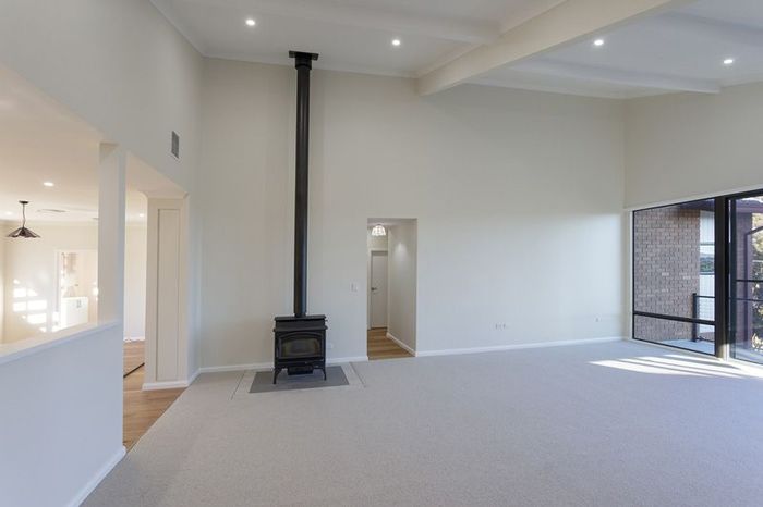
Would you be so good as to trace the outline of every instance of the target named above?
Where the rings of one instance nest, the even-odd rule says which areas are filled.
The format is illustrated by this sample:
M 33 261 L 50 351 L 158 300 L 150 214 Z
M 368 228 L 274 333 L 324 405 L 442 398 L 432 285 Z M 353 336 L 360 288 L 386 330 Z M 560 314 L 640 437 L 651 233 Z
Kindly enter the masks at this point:
M 187 386 L 185 191 L 130 154 L 125 174 L 123 437 L 128 450 Z

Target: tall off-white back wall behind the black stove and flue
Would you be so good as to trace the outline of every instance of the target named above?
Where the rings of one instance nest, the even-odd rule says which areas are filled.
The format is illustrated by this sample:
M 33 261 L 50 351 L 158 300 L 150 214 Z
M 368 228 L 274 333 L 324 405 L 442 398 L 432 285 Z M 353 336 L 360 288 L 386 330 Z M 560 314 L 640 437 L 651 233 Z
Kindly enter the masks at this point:
M 272 317 L 291 312 L 294 81 L 205 62 L 206 367 L 270 361 Z M 409 79 L 322 71 L 312 103 L 308 310 L 329 317 L 329 358 L 365 356 L 368 217 L 419 220 L 419 350 L 622 335 L 621 103 L 421 98 Z

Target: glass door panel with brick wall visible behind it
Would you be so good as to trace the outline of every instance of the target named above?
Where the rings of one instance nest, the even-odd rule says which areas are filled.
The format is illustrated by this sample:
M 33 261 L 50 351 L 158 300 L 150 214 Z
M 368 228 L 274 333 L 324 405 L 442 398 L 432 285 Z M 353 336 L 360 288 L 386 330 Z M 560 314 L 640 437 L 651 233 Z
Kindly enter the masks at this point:
M 633 213 L 633 337 L 715 354 L 715 200 Z

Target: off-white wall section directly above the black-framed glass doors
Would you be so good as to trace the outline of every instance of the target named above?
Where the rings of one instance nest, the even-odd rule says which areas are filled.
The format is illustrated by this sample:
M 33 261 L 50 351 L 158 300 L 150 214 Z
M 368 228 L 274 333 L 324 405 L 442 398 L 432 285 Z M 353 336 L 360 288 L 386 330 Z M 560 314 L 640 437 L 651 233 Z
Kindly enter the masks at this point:
M 763 187 L 763 84 L 627 104 L 628 207 Z

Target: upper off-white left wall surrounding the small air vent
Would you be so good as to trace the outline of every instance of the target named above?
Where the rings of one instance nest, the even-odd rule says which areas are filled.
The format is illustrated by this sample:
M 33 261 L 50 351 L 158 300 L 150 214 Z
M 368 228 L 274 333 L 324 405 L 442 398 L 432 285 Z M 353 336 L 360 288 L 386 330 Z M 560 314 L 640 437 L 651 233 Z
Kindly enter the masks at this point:
M 148 0 L 3 0 L 0 64 L 192 189 L 202 57 Z

